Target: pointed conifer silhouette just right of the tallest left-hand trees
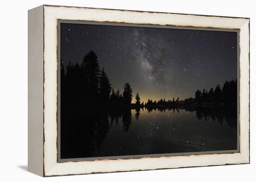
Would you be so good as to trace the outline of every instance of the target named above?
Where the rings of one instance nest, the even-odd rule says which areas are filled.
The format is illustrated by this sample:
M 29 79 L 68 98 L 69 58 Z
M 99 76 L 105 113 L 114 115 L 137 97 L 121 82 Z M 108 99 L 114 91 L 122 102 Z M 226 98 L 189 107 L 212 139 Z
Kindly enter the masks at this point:
M 111 84 L 107 74 L 104 71 L 104 68 L 101 71 L 99 90 L 101 101 L 107 101 L 111 92 Z

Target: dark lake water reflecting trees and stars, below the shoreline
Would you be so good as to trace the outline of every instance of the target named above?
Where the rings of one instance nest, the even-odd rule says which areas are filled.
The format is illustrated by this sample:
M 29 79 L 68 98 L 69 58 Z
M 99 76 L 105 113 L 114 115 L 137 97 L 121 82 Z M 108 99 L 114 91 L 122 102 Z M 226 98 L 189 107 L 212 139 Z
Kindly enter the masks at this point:
M 236 149 L 236 107 L 85 110 L 61 115 L 61 158 Z

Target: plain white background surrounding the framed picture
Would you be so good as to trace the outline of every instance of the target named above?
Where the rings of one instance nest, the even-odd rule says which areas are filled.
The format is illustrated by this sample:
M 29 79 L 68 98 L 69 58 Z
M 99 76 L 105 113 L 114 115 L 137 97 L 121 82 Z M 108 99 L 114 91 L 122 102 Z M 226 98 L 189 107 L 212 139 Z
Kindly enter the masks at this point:
M 6 0 L 0 5 L 0 181 L 255 181 L 253 0 Z M 27 10 L 42 4 L 250 18 L 250 164 L 41 178 L 27 172 Z M 254 92 L 253 92 L 254 91 Z

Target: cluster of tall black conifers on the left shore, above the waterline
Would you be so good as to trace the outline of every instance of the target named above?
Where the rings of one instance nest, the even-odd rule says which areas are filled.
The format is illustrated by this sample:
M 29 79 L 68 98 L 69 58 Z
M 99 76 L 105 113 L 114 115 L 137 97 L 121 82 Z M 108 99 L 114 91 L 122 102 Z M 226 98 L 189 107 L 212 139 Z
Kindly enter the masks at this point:
M 69 62 L 66 70 L 61 62 L 62 106 L 128 105 L 132 101 L 132 92 L 128 82 L 124 84 L 122 94 L 119 89 L 114 91 L 104 68 L 100 70 L 94 51 L 89 51 L 81 64 Z

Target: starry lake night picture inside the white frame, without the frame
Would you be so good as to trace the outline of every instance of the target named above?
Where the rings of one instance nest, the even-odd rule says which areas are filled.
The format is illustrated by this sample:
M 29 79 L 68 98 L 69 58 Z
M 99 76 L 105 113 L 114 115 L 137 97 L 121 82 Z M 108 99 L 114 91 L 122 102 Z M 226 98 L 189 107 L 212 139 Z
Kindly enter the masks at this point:
M 236 31 L 59 25 L 61 159 L 237 151 Z

